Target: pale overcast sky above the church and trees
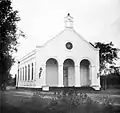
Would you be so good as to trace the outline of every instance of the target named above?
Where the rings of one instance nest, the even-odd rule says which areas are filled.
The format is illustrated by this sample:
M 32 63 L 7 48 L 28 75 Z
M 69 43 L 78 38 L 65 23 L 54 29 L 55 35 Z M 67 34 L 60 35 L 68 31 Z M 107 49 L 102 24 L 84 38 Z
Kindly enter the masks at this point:
M 74 29 L 89 42 L 113 42 L 120 48 L 120 0 L 13 0 L 19 11 L 18 27 L 27 39 L 20 39 L 16 59 L 64 30 L 67 13 Z

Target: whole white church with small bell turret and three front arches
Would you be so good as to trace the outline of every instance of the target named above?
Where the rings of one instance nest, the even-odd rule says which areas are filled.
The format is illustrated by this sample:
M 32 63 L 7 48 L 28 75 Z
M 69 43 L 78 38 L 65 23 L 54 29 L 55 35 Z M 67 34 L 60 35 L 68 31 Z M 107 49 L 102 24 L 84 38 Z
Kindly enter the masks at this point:
M 17 87 L 90 86 L 100 89 L 99 49 L 74 30 L 70 14 L 64 22 L 63 31 L 19 60 Z

